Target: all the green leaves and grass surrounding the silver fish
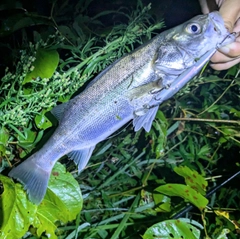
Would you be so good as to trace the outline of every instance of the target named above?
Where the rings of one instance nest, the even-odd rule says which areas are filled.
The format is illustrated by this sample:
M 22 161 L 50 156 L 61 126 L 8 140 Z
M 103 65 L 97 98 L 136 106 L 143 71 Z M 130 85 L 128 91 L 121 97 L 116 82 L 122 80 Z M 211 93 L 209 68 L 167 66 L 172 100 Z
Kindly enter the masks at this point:
M 71 174 L 57 164 L 38 207 L 27 200 L 21 184 L 6 176 L 12 164 L 52 133 L 56 121 L 47 112 L 57 102 L 69 100 L 162 26 L 153 24 L 150 6 L 140 2 L 133 5 L 136 10 L 109 8 L 91 16 L 95 1 L 74 4 L 58 0 L 46 17 L 23 11 L 16 2 L 17 12 L 4 20 L 8 27 L 0 35 L 20 32 L 22 39 L 5 42 L 4 47 L 21 45 L 21 51 L 16 58 L 18 49 L 11 50 L 14 64 L 6 58 L 0 82 L 1 238 L 5 233 L 60 239 L 238 238 L 237 186 L 209 191 L 239 171 L 239 66 L 225 73 L 207 68 L 160 106 L 149 133 L 126 126 L 97 145 L 80 175 L 62 159 Z M 4 15 L 11 9 L 2 5 L 0 11 Z M 189 204 L 196 209 L 176 219 Z

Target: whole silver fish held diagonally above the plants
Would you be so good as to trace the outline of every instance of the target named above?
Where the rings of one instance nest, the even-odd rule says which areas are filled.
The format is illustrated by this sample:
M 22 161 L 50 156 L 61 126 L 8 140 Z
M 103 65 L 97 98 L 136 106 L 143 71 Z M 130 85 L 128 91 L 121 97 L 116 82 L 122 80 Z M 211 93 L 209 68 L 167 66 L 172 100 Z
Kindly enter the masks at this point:
M 64 155 L 80 173 L 95 146 L 129 121 L 147 132 L 161 92 L 215 49 L 229 32 L 218 12 L 198 15 L 166 30 L 103 70 L 79 95 L 57 105 L 59 124 L 43 147 L 13 168 L 9 176 L 24 185 L 31 202 L 43 200 L 54 164 Z M 191 76 L 192 77 L 192 76 Z

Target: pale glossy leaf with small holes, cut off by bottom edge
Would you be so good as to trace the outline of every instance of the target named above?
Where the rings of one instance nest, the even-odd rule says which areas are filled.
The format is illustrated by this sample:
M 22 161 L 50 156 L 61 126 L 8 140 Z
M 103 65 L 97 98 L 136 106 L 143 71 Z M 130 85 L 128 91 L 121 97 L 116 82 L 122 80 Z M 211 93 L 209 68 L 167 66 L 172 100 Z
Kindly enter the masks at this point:
M 169 238 L 200 238 L 200 231 L 189 223 L 181 220 L 167 220 L 154 224 L 143 235 L 143 239 L 169 239 Z

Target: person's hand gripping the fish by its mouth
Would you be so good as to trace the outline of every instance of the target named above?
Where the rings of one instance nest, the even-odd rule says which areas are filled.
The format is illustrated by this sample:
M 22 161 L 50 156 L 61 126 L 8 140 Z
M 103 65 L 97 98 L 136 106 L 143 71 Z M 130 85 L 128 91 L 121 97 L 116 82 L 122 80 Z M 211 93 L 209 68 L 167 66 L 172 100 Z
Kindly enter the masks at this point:
M 208 13 L 212 9 L 210 0 L 199 0 L 203 13 Z M 240 32 L 240 1 L 239 0 L 213 0 L 224 19 L 224 23 L 229 32 Z M 216 70 L 225 70 L 240 62 L 240 36 L 236 41 L 220 48 L 211 58 L 211 67 Z

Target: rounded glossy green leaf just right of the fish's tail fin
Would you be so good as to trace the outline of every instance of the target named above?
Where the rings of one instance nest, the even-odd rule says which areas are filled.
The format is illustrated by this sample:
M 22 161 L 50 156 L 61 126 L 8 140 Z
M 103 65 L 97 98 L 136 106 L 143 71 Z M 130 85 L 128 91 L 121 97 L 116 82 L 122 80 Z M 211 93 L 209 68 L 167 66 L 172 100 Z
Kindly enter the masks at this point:
M 34 227 L 37 228 L 37 235 L 46 231 L 52 237 L 55 236 L 57 221 L 67 223 L 76 218 L 82 209 L 82 195 L 79 184 L 73 176 L 66 172 L 60 163 L 56 163 L 48 184 L 48 190 L 44 200 L 38 207 Z

